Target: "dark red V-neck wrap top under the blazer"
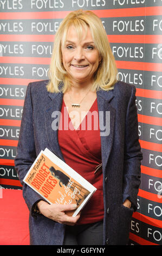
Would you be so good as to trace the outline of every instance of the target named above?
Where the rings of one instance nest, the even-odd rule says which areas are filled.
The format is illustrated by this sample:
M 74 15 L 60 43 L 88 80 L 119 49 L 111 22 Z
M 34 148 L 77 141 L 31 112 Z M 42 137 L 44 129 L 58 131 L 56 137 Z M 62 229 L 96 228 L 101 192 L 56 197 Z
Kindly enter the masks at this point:
M 62 103 L 61 113 L 62 119 L 60 118 L 58 137 L 64 160 L 77 173 L 97 188 L 93 196 L 82 209 L 81 217 L 77 224 L 101 221 L 103 220 L 104 212 L 102 170 L 94 174 L 95 167 L 101 163 L 101 141 L 97 100 L 94 101 L 88 112 L 88 114 L 92 114 L 92 119 L 88 119 L 87 117 L 89 115 L 87 114 L 77 130 L 74 129 L 72 121 L 69 118 L 64 101 Z M 93 118 L 93 114 L 94 117 L 96 117 L 95 119 Z M 69 126 L 64 125 L 66 120 L 68 120 Z M 92 129 L 90 127 L 91 123 Z

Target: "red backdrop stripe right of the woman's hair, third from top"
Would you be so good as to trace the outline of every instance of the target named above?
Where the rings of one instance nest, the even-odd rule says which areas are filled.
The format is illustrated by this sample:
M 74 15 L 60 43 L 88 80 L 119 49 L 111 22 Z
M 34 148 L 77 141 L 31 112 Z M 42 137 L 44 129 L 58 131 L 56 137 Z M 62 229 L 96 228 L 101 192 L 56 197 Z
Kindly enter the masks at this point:
M 133 69 L 133 70 L 159 71 L 159 72 L 161 72 L 162 70 L 161 63 L 126 62 L 122 60 L 116 60 L 116 66 L 118 69 Z

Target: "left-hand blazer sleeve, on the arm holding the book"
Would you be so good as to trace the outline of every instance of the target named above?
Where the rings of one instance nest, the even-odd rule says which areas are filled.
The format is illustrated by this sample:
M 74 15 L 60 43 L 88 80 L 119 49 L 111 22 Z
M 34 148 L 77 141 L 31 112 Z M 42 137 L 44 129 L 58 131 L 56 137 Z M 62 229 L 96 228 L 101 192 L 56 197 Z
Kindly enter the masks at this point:
M 21 120 L 20 136 L 15 158 L 15 169 L 18 178 L 23 185 L 23 197 L 33 217 L 37 214 L 33 211 L 35 204 L 42 200 L 41 196 L 23 182 L 24 176 L 36 159 L 34 129 L 33 129 L 33 106 L 31 99 L 31 83 L 28 84 L 24 100 L 23 114 Z

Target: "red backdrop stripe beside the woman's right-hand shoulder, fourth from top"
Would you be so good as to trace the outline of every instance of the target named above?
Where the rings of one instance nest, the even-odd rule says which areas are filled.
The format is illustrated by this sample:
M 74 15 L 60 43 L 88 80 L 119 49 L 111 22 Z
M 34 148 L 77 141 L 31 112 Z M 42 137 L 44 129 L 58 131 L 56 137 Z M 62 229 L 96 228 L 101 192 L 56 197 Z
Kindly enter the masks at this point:
M 162 99 L 162 92 L 160 90 L 147 90 L 136 88 L 136 96 L 147 97 L 151 99 Z

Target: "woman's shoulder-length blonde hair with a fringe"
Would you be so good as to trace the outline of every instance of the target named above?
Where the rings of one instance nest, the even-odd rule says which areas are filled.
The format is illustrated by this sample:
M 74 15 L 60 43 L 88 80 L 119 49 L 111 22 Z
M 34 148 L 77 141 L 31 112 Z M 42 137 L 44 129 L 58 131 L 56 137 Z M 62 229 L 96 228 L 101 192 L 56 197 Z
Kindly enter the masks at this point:
M 61 40 L 64 44 L 68 29 L 72 25 L 75 27 L 79 36 L 82 36 L 83 28 L 87 29 L 87 27 L 89 27 L 95 47 L 98 49 L 101 57 L 101 62 L 94 74 L 92 90 L 99 90 L 100 88 L 103 90 L 113 89 L 118 71 L 116 69 L 115 59 L 107 39 L 105 28 L 103 27 L 99 17 L 92 11 L 77 10 L 72 11 L 63 19 L 55 35 L 55 42 L 48 72 L 48 92 L 60 92 L 59 85 L 62 81 L 63 87 L 61 90 L 63 93 L 72 85 L 70 84 L 67 72 L 62 64 L 61 52 Z

